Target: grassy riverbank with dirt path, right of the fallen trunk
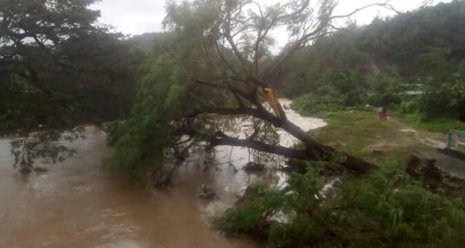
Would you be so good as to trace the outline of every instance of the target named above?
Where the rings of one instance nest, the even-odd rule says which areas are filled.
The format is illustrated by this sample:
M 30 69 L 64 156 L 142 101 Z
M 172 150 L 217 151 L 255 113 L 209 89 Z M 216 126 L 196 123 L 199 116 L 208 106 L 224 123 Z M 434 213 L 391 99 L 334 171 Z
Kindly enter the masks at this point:
M 328 125 L 310 134 L 342 152 L 358 156 L 382 167 L 405 166 L 411 154 L 437 160 L 444 171 L 465 178 L 465 162 L 444 156 L 437 148 L 445 147 L 445 134 L 411 126 L 389 116 L 380 121 L 378 114 L 368 111 L 327 112 Z

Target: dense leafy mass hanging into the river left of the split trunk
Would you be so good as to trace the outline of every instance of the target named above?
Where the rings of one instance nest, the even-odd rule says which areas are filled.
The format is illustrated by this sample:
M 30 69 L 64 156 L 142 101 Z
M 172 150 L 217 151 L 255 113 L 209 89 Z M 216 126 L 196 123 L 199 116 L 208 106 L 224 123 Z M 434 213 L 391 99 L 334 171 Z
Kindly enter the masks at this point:
M 143 44 L 144 39 L 139 38 L 136 37 L 136 43 Z M 157 41 L 139 69 L 130 116 L 109 130 L 108 141 L 114 146 L 112 169 L 133 178 L 140 178 L 147 169 L 163 169 L 161 162 L 183 132 L 192 133 L 194 128 L 212 132 L 203 123 L 189 123 L 189 130 L 179 130 L 181 124 L 173 125 L 173 120 L 201 104 L 231 104 L 228 96 L 189 85 L 193 76 L 212 76 L 203 63 L 212 65 L 214 61 L 205 59 L 205 41 L 198 33 L 175 31 L 158 35 Z M 206 99 L 208 94 L 211 98 Z

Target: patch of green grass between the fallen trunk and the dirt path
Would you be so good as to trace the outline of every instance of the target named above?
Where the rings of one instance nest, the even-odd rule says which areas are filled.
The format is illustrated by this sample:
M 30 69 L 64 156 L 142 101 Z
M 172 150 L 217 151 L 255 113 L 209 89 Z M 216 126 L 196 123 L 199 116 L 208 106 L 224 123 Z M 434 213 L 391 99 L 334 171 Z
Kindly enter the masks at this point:
M 327 127 L 311 131 L 312 136 L 378 165 L 405 163 L 410 154 L 433 149 L 418 141 L 417 134 L 401 132 L 398 123 L 380 121 L 375 112 L 340 111 L 326 116 Z M 375 154 L 373 149 L 381 153 Z

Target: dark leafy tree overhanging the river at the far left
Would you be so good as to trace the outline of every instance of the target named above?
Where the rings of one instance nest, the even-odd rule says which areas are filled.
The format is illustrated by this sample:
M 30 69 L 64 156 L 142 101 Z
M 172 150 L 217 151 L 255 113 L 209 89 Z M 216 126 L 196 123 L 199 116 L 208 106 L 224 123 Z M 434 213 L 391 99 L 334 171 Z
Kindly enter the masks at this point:
M 130 111 L 142 54 L 97 23 L 95 1 L 0 2 L 0 134 L 16 134 L 24 172 L 34 158 L 71 152 L 50 145 L 76 125 L 112 121 Z

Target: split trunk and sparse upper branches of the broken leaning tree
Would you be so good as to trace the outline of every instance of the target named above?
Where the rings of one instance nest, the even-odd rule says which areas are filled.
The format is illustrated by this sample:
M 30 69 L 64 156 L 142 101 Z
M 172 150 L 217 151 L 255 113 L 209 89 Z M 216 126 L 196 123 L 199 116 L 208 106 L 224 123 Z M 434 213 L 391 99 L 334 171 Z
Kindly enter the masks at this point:
M 271 123 L 276 129 L 285 130 L 303 144 L 303 149 L 296 149 L 260 141 L 257 137 L 262 132 L 262 127 L 254 125 L 253 134 L 247 138 L 235 138 L 222 131 L 215 132 L 207 139 L 209 148 L 232 145 L 300 160 L 333 161 L 358 173 L 376 168 L 372 163 L 319 143 L 289 121 L 271 85 L 279 79 L 282 65 L 289 56 L 318 37 L 333 31 L 333 20 L 350 17 L 370 6 L 394 10 L 389 3 L 373 3 L 347 15 L 335 16 L 332 13 L 337 1 L 322 1 L 319 6 L 313 6 L 314 3 L 308 0 L 289 1 L 266 7 L 247 0 L 207 2 L 208 8 L 213 8 L 213 12 L 217 13 L 213 25 L 203 30 L 203 33 L 206 33 L 205 38 L 214 43 L 207 56 L 213 56 L 212 60 L 223 64 L 229 70 L 220 72 L 217 69 L 219 65 L 214 65 L 214 68 L 209 69 L 216 70 L 216 74 L 220 76 L 209 80 L 194 78 L 193 87 L 211 87 L 219 90 L 219 94 L 230 94 L 236 99 L 237 107 L 200 107 L 186 118 L 197 118 L 200 114 L 250 116 L 258 120 L 254 123 Z M 178 11 L 183 9 L 185 4 L 168 6 L 168 10 L 171 11 L 168 11 L 166 23 L 173 30 L 190 28 L 176 19 L 176 14 L 180 13 Z M 190 7 L 197 14 L 206 7 L 203 4 L 204 2 L 198 1 Z M 291 41 L 278 56 L 272 56 L 266 52 L 271 43 L 270 34 L 280 27 L 287 28 Z M 260 101 L 262 99 L 266 100 L 273 112 L 265 107 L 263 101 Z M 185 121 L 189 122 L 190 120 Z

